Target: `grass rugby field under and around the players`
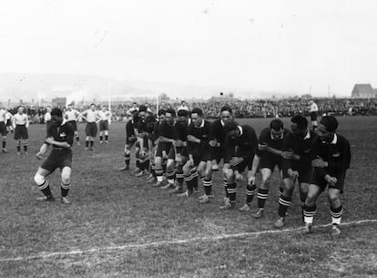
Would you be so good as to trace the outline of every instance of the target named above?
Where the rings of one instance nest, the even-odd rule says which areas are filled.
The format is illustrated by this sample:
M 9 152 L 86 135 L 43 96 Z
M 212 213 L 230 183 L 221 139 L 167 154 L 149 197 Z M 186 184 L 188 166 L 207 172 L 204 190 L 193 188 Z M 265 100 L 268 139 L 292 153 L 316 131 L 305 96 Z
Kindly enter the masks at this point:
M 260 132 L 269 121 L 240 122 Z M 219 172 L 214 201 L 200 205 L 117 170 L 124 163 L 124 123 L 110 126 L 109 145 L 96 143 L 89 152 L 74 147 L 72 205 L 39 203 L 33 177 L 45 126 L 31 126 L 29 156 L 16 156 L 10 138 L 9 153 L 0 153 L 0 277 L 377 277 L 377 118 L 339 121 L 339 132 L 352 144 L 352 168 L 342 196 L 348 224 L 336 241 L 324 226 L 331 221 L 325 196 L 311 235 L 298 230 L 297 192 L 286 230 L 272 228 L 276 173 L 265 216 L 254 220 L 251 213 L 219 211 Z M 82 141 L 84 125 L 78 128 Z M 58 172 L 50 178 L 56 196 L 59 178 Z M 238 207 L 244 199 L 242 184 Z M 356 222 L 362 220 L 372 221 Z

